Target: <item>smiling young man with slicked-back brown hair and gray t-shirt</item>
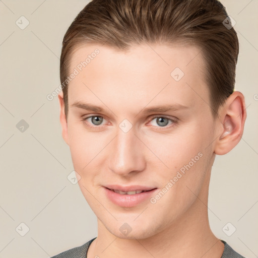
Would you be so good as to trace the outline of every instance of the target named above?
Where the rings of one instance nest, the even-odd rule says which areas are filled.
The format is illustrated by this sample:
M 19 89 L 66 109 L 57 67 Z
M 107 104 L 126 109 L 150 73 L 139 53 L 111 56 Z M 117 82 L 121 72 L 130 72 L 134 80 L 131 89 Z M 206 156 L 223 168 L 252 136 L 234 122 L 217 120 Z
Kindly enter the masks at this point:
M 216 0 L 93 0 L 80 12 L 58 99 L 98 236 L 54 257 L 243 257 L 207 211 L 215 156 L 243 134 L 238 47 Z

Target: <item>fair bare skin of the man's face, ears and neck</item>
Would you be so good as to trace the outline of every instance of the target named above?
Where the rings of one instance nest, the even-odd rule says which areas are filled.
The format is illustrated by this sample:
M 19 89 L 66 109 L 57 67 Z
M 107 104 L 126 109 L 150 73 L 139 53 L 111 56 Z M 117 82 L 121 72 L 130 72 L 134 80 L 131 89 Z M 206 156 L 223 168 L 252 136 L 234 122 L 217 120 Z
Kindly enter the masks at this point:
M 88 44 L 72 56 L 71 72 L 96 48 L 100 53 L 69 84 L 68 120 L 58 95 L 62 137 L 98 218 L 88 257 L 221 257 L 224 244 L 208 220 L 209 181 L 216 154 L 229 152 L 242 136 L 243 95 L 231 94 L 214 119 L 197 46 L 141 44 L 125 52 Z M 184 73 L 178 82 L 170 76 L 176 67 Z M 72 106 L 78 101 L 103 111 Z M 186 108 L 144 113 L 164 104 Z M 101 125 L 83 120 L 91 115 L 102 116 Z M 162 126 L 157 117 L 175 122 L 165 120 Z M 133 125 L 127 133 L 119 128 L 124 119 Z M 105 196 L 106 184 L 161 190 L 198 153 L 202 157 L 155 204 L 147 200 L 125 208 Z M 124 223 L 132 228 L 126 236 L 119 230 Z

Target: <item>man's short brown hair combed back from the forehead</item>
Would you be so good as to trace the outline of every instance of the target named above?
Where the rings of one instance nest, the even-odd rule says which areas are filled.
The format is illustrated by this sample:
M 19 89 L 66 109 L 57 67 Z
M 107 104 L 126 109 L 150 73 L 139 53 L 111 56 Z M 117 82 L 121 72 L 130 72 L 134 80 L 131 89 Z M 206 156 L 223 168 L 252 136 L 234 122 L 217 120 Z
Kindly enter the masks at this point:
M 239 52 L 234 28 L 223 24 L 227 17 L 224 6 L 217 0 L 93 0 L 64 35 L 61 83 L 64 85 L 69 75 L 73 52 L 86 43 L 105 44 L 119 50 L 145 42 L 192 43 L 202 49 L 211 110 L 217 117 L 220 105 L 233 93 Z M 67 117 L 68 83 L 62 91 Z

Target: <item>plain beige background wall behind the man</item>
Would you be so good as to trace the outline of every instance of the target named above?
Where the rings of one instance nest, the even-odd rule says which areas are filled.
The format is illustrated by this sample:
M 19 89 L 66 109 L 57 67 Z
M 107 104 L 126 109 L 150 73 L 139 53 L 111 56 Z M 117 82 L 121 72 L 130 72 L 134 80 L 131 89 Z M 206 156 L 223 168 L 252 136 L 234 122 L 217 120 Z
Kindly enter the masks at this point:
M 87 3 L 0 1 L 0 257 L 45 258 L 97 236 L 93 212 L 78 184 L 67 178 L 73 164 L 61 138 L 57 97 L 46 98 L 59 85 L 63 35 Z M 258 1 L 222 3 L 239 35 L 236 90 L 245 96 L 247 120 L 238 146 L 215 160 L 209 218 L 217 237 L 253 258 L 258 256 Z M 29 21 L 23 30 L 16 25 L 26 24 L 21 16 Z M 29 124 L 23 133 L 16 126 L 22 119 Z M 236 228 L 231 236 L 222 230 L 228 222 Z M 21 223 L 29 228 L 24 236 Z

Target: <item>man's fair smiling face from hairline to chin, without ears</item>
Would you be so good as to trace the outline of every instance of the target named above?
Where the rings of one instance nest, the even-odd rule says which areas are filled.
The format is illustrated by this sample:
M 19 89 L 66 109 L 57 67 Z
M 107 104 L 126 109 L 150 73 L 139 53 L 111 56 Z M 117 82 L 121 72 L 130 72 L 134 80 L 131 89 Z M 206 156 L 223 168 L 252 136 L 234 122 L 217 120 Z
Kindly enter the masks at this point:
M 153 236 L 207 189 L 216 136 L 204 66 L 195 46 L 85 45 L 74 53 L 63 138 L 82 193 L 111 234 Z

